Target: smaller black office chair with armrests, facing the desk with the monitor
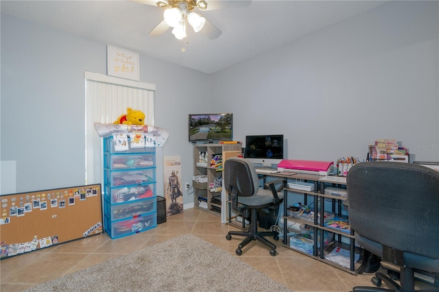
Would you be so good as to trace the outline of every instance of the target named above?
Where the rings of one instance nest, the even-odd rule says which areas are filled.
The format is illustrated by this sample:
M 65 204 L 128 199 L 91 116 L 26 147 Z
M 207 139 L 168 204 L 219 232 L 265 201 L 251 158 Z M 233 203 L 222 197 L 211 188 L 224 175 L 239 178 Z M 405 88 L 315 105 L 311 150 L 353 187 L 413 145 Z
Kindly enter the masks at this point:
M 283 201 L 281 190 L 287 184 L 286 180 L 273 180 L 264 184 L 264 188 L 259 188 L 259 178 L 252 162 L 245 158 L 228 158 L 224 162 L 224 187 L 230 194 L 233 210 L 244 213 L 250 209 L 251 219 L 248 231 L 230 231 L 226 239 L 230 241 L 232 235 L 247 236 L 244 241 L 239 243 L 236 254 L 241 256 L 242 248 L 251 241 L 260 241 L 271 248 L 270 254 L 276 256 L 276 245 L 265 239 L 264 236 L 273 236 L 274 240 L 279 239 L 276 231 L 258 232 L 258 210 L 272 207 L 276 210 Z

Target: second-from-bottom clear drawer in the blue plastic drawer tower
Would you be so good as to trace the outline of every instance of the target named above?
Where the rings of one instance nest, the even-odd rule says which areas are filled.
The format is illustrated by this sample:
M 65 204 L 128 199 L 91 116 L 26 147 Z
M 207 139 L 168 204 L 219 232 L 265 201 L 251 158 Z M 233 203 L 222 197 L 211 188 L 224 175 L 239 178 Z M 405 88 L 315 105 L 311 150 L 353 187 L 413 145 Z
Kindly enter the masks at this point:
M 150 212 L 156 212 L 157 210 L 156 197 L 137 200 L 134 203 L 126 202 L 112 205 L 110 202 L 108 202 L 108 200 L 105 200 L 105 203 L 105 214 L 110 215 L 111 221 L 136 218 Z

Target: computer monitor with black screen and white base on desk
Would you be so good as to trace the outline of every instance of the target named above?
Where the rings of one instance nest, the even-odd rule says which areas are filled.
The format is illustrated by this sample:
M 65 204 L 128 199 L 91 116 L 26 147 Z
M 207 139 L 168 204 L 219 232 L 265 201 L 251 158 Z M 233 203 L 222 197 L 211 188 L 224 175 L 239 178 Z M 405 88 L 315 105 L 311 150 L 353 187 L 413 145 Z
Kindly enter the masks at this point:
M 255 166 L 272 167 L 283 160 L 284 155 L 283 135 L 257 135 L 246 136 L 246 149 L 244 157 L 248 158 Z

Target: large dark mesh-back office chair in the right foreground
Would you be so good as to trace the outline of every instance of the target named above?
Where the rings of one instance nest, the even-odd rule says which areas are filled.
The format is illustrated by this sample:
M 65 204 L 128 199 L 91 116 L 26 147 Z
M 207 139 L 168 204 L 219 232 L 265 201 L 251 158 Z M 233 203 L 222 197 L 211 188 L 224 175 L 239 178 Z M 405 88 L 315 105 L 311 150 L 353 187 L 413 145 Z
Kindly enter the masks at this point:
M 383 273 L 372 283 L 414 291 L 414 269 L 439 272 L 439 173 L 401 162 L 366 162 L 352 167 L 346 180 L 349 221 L 361 247 L 401 268 L 401 286 Z

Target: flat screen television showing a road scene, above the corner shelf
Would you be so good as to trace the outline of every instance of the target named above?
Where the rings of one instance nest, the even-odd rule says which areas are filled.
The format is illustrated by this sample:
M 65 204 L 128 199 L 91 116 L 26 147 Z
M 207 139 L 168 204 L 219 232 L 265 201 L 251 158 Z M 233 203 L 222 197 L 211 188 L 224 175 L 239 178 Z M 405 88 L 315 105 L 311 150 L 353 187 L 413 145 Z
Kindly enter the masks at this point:
M 189 142 L 233 141 L 233 114 L 189 114 Z

